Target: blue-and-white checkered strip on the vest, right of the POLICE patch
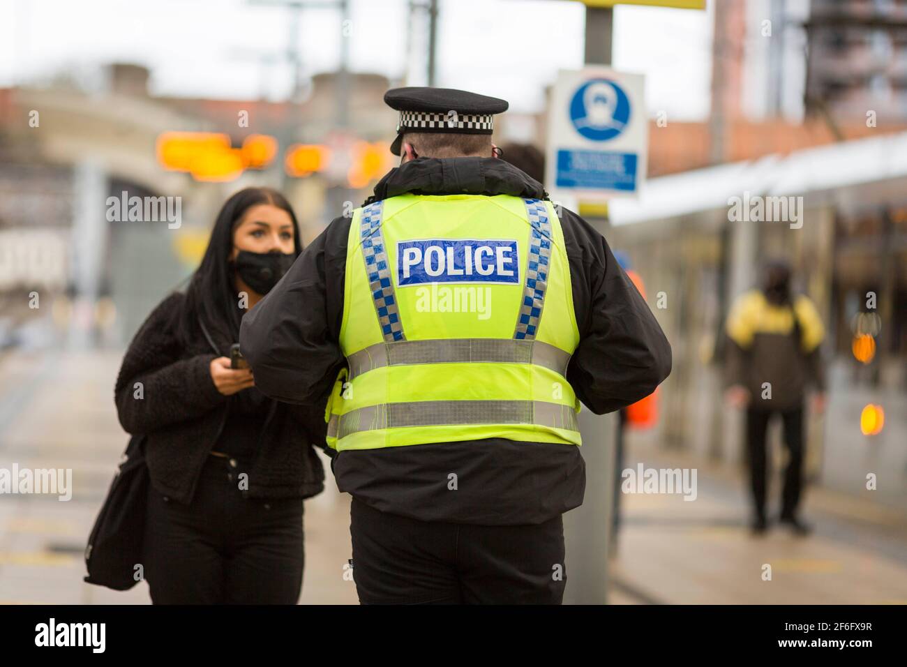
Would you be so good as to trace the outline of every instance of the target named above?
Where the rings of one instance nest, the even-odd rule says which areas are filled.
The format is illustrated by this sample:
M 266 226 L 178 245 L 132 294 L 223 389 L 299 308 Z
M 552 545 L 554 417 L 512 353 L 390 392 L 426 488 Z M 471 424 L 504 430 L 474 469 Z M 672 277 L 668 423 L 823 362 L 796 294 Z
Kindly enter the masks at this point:
M 513 338 L 534 339 L 539 330 L 541 309 L 545 305 L 548 271 L 551 268 L 551 219 L 545 202 L 524 199 L 529 224 L 529 259 L 526 263 L 526 282 L 522 289 L 520 315 L 516 320 Z

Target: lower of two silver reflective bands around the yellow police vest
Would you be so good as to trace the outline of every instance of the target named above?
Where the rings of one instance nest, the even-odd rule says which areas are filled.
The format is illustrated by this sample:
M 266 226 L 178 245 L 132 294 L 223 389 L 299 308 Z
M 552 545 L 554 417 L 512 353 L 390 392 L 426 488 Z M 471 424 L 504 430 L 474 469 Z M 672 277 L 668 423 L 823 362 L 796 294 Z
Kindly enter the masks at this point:
M 579 431 L 570 406 L 545 401 L 414 401 L 360 407 L 340 417 L 340 437 L 380 428 L 532 424 Z

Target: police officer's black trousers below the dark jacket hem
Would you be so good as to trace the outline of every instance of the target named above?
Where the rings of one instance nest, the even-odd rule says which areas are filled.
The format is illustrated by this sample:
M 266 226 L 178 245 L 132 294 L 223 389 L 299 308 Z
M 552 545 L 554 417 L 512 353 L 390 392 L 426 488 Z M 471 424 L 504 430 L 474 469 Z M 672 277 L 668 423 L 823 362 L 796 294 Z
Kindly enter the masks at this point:
M 451 493 L 456 493 L 452 491 Z M 424 522 L 353 498 L 353 579 L 363 604 L 560 604 L 563 521 Z

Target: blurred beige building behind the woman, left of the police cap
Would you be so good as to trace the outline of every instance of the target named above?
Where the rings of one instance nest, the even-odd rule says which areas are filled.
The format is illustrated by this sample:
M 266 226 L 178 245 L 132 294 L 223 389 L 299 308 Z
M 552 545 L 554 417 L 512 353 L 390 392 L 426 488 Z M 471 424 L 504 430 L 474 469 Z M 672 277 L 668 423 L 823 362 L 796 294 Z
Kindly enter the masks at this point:
M 389 151 L 368 149 L 370 171 L 347 176 L 357 146 L 393 140 L 395 113 L 382 102 L 390 82 L 380 75 L 346 74 L 341 88 L 337 74 L 319 74 L 306 99 L 272 103 L 152 96 L 148 70 L 132 64 L 100 74 L 91 87 L 58 77 L 0 90 L 0 347 L 23 344 L 32 320 L 75 345 L 122 343 L 194 270 L 230 192 L 285 191 L 308 241 L 390 167 Z M 337 122 L 341 106 L 349 129 Z M 172 131 L 219 132 L 236 147 L 264 134 L 278 151 L 263 169 L 200 181 L 161 166 L 156 142 Z M 284 156 L 297 143 L 323 145 L 329 168 L 289 176 Z M 107 221 L 105 201 L 123 192 L 179 198 L 180 224 Z M 42 309 L 24 299 L 34 290 Z

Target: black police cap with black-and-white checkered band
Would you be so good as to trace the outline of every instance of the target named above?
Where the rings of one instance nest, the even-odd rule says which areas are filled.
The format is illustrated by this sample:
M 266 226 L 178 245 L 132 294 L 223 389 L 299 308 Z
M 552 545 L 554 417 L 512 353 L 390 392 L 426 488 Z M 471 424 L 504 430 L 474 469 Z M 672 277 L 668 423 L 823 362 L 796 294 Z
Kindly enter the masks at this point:
M 391 152 L 400 154 L 404 132 L 453 132 L 491 134 L 494 114 L 507 111 L 509 104 L 453 88 L 394 88 L 385 93 L 385 103 L 400 112 L 397 137 Z

